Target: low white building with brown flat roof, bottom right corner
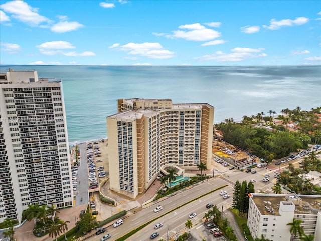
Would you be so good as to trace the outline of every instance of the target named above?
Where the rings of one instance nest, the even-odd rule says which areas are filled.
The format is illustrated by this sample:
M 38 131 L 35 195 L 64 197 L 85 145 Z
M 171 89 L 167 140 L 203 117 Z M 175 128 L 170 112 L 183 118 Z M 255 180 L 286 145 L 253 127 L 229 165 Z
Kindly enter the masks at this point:
M 247 225 L 254 239 L 263 235 L 271 241 L 301 240 L 290 232 L 293 219 L 302 221 L 304 234 L 321 240 L 321 196 L 250 194 Z

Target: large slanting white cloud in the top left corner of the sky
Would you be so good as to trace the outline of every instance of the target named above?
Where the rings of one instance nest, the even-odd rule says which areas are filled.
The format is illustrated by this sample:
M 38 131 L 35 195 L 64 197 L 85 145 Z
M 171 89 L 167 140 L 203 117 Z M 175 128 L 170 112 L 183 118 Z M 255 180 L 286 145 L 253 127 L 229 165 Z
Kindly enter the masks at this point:
M 50 22 L 48 18 L 38 14 L 38 8 L 32 8 L 24 1 L 9 1 L 0 5 L 0 8 L 6 13 L 10 13 L 11 17 L 31 26 L 37 26 L 43 22 Z

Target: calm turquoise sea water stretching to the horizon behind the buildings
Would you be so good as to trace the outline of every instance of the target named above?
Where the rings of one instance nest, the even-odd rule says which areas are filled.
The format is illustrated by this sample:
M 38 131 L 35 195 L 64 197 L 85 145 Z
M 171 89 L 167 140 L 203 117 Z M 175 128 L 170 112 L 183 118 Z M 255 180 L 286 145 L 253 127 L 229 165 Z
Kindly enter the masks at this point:
M 36 70 L 63 79 L 70 144 L 105 138 L 106 117 L 121 98 L 170 98 L 208 103 L 214 123 L 281 109 L 321 106 L 321 67 L 33 66 L 1 65 L 0 72 Z

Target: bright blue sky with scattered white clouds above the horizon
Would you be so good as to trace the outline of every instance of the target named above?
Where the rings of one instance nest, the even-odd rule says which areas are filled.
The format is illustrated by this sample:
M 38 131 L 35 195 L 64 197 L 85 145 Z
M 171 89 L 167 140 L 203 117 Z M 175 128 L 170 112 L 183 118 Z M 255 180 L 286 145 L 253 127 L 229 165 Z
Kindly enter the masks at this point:
M 320 65 L 321 1 L 4 1 L 0 64 Z

